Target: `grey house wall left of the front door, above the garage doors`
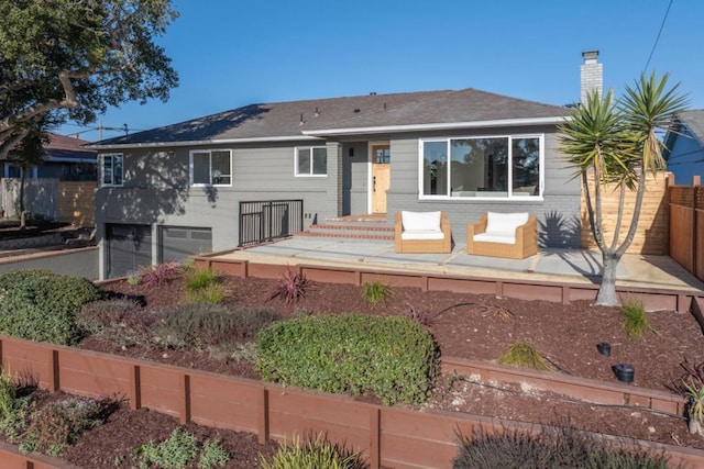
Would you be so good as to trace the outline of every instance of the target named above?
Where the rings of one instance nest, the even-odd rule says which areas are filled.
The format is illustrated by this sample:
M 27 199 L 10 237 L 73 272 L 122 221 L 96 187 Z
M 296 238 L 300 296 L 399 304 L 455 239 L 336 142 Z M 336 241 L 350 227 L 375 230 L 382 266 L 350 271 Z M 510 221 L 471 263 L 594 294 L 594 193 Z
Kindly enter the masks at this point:
M 213 252 L 237 247 L 240 201 L 302 199 L 304 228 L 317 220 L 338 215 L 343 202 L 342 148 L 337 143 L 327 144 L 327 176 L 295 177 L 295 147 L 310 145 L 321 146 L 321 143 L 207 147 L 232 149 L 231 187 L 189 186 L 190 150 L 196 148 L 110 150 L 123 155 L 124 183 L 101 187 L 96 193 L 96 236 L 101 247 L 102 275 L 106 272 L 106 224 L 151 225 L 153 261 L 156 263 L 160 225 L 209 227 Z

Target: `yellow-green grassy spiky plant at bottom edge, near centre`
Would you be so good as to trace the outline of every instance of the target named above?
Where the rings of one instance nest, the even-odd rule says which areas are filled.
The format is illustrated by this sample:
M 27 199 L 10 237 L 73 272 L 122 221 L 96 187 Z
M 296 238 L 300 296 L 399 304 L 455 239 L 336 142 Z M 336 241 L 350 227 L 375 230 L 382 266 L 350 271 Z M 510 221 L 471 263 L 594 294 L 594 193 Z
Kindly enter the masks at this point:
M 262 469 L 363 469 L 366 466 L 360 454 L 353 454 L 341 445 L 330 443 L 324 435 L 301 443 L 296 438 L 290 446 L 282 446 L 270 462 L 260 457 Z

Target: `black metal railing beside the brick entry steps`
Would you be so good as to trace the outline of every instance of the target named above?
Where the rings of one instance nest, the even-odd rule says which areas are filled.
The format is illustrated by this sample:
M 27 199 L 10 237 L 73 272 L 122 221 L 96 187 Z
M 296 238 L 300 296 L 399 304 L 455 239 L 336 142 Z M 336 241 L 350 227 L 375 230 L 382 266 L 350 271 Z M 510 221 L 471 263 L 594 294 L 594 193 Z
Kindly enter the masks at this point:
M 240 202 L 240 246 L 293 236 L 302 227 L 302 200 Z

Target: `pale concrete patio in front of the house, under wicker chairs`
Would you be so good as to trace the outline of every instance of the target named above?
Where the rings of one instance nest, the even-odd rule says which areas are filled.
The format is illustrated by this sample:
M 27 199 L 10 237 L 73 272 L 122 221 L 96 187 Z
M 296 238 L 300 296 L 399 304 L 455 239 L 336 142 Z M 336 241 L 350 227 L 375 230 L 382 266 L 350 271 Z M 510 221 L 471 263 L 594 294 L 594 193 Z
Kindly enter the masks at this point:
M 396 254 L 393 242 L 329 237 L 293 237 L 237 249 L 218 258 L 262 264 L 326 265 L 406 270 L 514 280 L 598 283 L 601 252 L 541 249 L 521 260 L 470 256 L 464 245 L 450 254 Z M 704 283 L 669 256 L 627 254 L 619 263 L 617 284 L 682 291 L 704 291 Z

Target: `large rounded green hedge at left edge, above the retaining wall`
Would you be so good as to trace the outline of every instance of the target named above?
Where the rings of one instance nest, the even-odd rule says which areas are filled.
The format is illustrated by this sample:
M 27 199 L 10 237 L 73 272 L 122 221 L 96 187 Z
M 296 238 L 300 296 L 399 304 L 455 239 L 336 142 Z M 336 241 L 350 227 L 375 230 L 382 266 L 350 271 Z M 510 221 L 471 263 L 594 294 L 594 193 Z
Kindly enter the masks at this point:
M 62 345 L 77 343 L 82 331 L 80 308 L 102 299 L 90 280 L 46 270 L 0 275 L 0 332 L 32 340 Z

